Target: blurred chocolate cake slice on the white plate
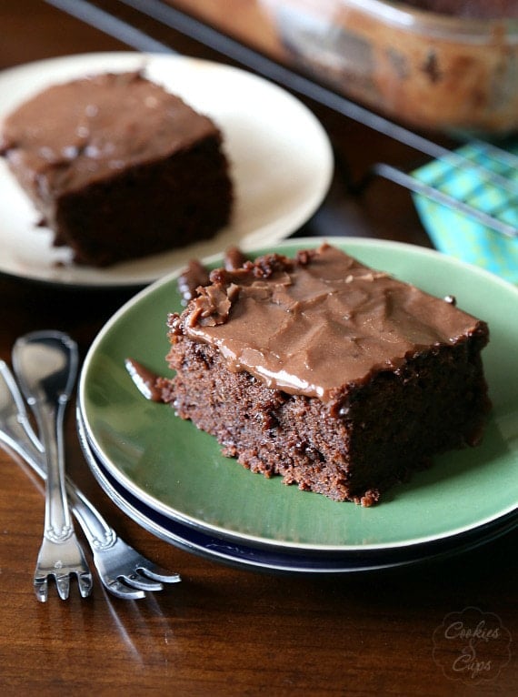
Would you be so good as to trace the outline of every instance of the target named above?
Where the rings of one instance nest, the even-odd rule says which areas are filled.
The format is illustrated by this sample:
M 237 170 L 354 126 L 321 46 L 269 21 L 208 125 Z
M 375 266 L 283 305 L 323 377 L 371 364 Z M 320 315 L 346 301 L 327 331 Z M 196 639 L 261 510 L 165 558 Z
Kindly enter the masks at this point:
M 51 86 L 5 119 L 0 154 L 55 245 L 103 267 L 214 237 L 232 181 L 213 121 L 138 72 Z

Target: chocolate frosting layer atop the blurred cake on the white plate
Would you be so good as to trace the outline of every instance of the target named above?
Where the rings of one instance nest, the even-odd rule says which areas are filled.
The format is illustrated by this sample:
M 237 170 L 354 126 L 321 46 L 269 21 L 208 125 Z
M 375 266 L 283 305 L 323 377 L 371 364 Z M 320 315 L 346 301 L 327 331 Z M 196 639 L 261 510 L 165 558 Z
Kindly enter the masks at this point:
M 209 118 L 140 73 L 102 74 L 51 86 L 19 106 L 3 124 L 0 154 L 45 201 L 214 131 Z

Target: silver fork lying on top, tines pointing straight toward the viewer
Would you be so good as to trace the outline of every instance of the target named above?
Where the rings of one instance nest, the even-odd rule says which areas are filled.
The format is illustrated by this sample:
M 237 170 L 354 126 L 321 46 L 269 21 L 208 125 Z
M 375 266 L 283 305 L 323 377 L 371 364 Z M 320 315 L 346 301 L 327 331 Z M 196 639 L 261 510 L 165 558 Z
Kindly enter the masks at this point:
M 92 592 L 92 574 L 75 537 L 65 491 L 63 419 L 77 364 L 77 346 L 61 332 L 38 331 L 15 341 L 15 373 L 35 413 L 46 458 L 45 529 L 34 575 L 35 594 L 41 602 L 47 600 L 50 577 L 64 601 L 71 575 L 77 578 L 83 598 Z

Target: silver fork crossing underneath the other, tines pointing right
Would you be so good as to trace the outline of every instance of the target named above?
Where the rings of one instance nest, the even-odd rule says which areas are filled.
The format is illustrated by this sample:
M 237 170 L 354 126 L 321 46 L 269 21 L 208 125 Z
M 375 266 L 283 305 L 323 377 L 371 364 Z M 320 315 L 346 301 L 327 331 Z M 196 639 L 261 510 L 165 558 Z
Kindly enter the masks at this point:
M 15 378 L 3 360 L 0 360 L 0 441 L 46 479 L 43 446 L 31 427 Z M 90 544 L 95 568 L 107 591 L 117 598 L 138 600 L 145 597 L 144 591 L 161 591 L 163 583 L 181 581 L 179 574 L 162 569 L 118 537 L 74 482 L 68 477 L 65 481 L 71 509 Z

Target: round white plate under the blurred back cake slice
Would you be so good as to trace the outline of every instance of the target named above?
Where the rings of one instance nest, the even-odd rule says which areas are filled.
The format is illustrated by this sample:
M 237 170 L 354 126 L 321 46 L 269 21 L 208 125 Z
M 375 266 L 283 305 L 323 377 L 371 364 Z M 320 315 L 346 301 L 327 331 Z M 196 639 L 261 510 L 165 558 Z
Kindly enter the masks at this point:
M 69 286 L 143 286 L 185 261 L 272 244 L 292 234 L 321 204 L 333 173 L 323 126 L 298 99 L 244 70 L 162 54 L 66 56 L 0 73 L 0 119 L 55 83 L 87 74 L 144 69 L 207 116 L 224 133 L 236 204 L 232 224 L 214 239 L 109 268 L 76 267 L 53 233 L 35 227 L 37 213 L 0 161 L 0 272 Z

